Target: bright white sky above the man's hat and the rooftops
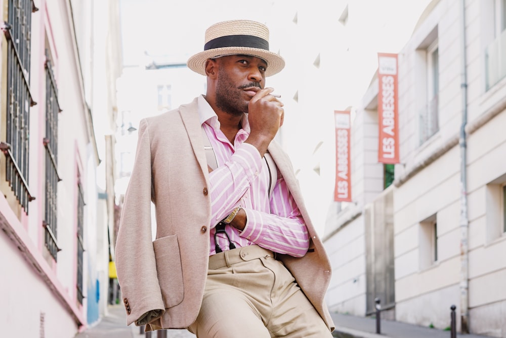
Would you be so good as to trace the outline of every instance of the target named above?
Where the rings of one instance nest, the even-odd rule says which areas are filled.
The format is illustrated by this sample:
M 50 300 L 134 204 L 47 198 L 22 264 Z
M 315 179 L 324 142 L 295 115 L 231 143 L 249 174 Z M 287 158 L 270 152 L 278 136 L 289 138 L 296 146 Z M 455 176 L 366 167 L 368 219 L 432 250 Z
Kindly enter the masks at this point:
M 315 27 L 325 27 L 322 20 L 338 20 L 346 3 L 350 9 L 359 6 L 362 11 L 356 36 L 349 41 L 333 42 L 330 33 L 316 32 L 306 39 L 315 50 L 324 44 L 349 44 L 353 52 L 344 60 L 343 76 L 360 81 L 354 95 L 361 97 L 377 67 L 375 52 L 397 53 L 404 46 L 418 21 L 420 13 L 431 0 L 330 0 L 335 8 L 332 13 L 320 13 L 319 3 L 329 0 L 257 0 L 252 3 L 232 0 L 119 0 L 123 44 L 123 65 L 142 65 L 149 56 L 160 57 L 175 63 L 184 63 L 193 54 L 202 50 L 204 32 L 210 25 L 231 19 L 252 19 L 267 22 L 271 31 L 271 50 L 275 51 L 275 35 L 282 28 L 276 22 L 292 20 L 296 8 L 300 18 L 314 20 Z M 382 15 L 378 15 L 382 13 Z M 335 15 L 335 18 L 334 18 Z M 350 12 L 350 16 L 353 13 Z M 288 21 L 289 22 L 289 21 Z M 313 33 L 313 32 L 312 32 Z M 301 42 L 302 43 L 302 42 Z M 311 48 L 308 48 L 311 50 Z M 374 52 L 371 52 L 374 50 Z M 147 54 L 147 55 L 146 55 Z M 297 60 L 299 55 L 283 54 L 285 60 Z M 348 87 L 350 87 L 348 85 Z M 355 88 L 355 87 L 353 87 Z M 347 88 L 348 91 L 352 88 Z M 347 97 L 350 94 L 347 93 Z M 355 103 L 356 100 L 353 100 Z M 347 105 L 347 104 L 346 104 Z M 336 105 L 345 109 L 346 105 Z

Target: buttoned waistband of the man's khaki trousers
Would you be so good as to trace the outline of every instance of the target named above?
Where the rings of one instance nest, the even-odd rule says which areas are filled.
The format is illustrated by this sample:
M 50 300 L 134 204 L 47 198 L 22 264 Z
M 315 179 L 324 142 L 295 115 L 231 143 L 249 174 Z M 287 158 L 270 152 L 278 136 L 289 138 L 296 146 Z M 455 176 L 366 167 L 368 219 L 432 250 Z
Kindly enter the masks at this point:
M 247 262 L 261 257 L 275 258 L 276 256 L 271 250 L 264 249 L 256 244 L 225 250 L 209 256 L 209 270 L 230 267 L 236 263 Z

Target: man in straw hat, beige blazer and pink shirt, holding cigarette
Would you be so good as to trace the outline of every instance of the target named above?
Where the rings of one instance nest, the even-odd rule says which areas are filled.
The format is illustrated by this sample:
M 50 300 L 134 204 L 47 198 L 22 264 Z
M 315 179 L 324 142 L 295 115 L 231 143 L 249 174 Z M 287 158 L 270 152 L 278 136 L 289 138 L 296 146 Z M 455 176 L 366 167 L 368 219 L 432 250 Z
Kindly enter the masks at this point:
M 265 77 L 284 60 L 268 39 L 254 21 L 209 27 L 188 60 L 207 76 L 206 95 L 140 123 L 116 244 L 129 325 L 199 338 L 331 337 L 330 264 L 273 141 L 284 111 Z

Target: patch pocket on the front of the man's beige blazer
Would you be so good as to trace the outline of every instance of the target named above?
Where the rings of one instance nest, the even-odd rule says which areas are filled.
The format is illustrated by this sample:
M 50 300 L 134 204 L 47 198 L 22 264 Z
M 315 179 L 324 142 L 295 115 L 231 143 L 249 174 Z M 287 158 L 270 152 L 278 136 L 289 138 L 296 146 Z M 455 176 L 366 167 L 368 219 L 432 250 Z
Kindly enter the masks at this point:
M 177 235 L 158 238 L 153 242 L 156 271 L 165 309 L 183 301 L 183 269 Z

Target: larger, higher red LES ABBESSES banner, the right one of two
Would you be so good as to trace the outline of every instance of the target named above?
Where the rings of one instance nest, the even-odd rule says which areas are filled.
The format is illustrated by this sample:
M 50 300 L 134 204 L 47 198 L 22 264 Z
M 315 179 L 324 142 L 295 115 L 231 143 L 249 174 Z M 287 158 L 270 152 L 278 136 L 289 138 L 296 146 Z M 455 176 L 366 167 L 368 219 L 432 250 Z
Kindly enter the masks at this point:
M 378 162 L 399 163 L 397 54 L 378 53 Z

